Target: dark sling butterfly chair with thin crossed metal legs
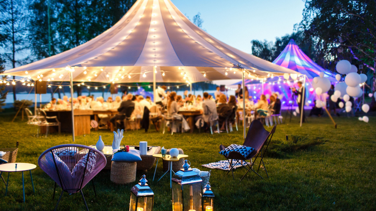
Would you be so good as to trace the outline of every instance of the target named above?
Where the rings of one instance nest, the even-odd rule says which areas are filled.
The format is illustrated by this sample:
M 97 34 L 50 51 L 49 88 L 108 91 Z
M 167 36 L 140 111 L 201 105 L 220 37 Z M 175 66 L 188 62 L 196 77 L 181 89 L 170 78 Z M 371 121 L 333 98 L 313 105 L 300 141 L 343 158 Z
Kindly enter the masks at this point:
M 247 169 L 247 172 L 244 174 L 244 176 L 246 176 L 246 174 L 250 170 L 252 170 L 253 172 L 255 172 L 253 170 L 253 164 L 256 162 L 256 160 L 257 160 L 257 158 L 258 158 L 259 155 L 261 157 L 261 160 L 260 160 L 260 164 L 259 164 L 259 167 L 257 169 L 257 172 L 255 172 L 255 173 L 258 176 L 260 176 L 261 178 L 263 178 L 261 175 L 258 174 L 258 171 L 259 171 L 261 163 L 262 163 L 264 165 L 264 169 L 265 169 L 266 175 L 269 178 L 269 175 L 268 175 L 268 172 L 266 170 L 264 161 L 262 159 L 264 158 L 265 152 L 268 149 L 268 146 L 269 146 L 269 143 L 271 141 L 271 138 L 273 137 L 273 134 L 276 131 L 276 127 L 277 127 L 277 125 L 274 125 L 273 129 L 271 129 L 271 131 L 268 132 L 267 130 L 265 130 L 264 125 L 262 125 L 262 123 L 259 120 L 252 121 L 251 125 L 249 126 L 247 137 L 246 137 L 246 140 L 244 140 L 243 145 L 244 146 L 252 147 L 254 150 L 247 157 L 244 157 L 242 154 L 240 154 L 239 152 L 235 152 L 235 151 L 230 152 L 229 155 L 227 155 L 227 157 L 226 157 L 227 160 L 231 160 L 231 161 L 229 161 L 230 165 L 231 165 L 231 168 L 230 168 L 230 170 L 227 173 L 229 173 L 231 171 L 232 172 L 232 178 L 234 176 L 233 175 L 233 167 L 239 161 L 246 161 L 246 160 L 250 160 L 251 161 L 251 165 L 250 166 L 246 162 L 246 164 L 247 164 L 247 166 L 249 168 L 247 169 L 245 167 Z M 262 152 L 262 148 L 264 147 L 264 145 L 265 145 L 265 143 L 267 142 L 268 139 L 269 139 L 269 142 L 267 143 L 267 146 L 266 146 L 264 152 Z M 223 149 L 226 148 L 226 146 L 220 145 L 219 148 L 222 151 Z M 255 160 L 253 162 L 252 162 L 252 158 L 255 158 Z M 237 162 L 234 165 L 232 164 L 233 160 L 237 160 Z M 240 181 L 244 178 L 244 176 L 240 179 Z

